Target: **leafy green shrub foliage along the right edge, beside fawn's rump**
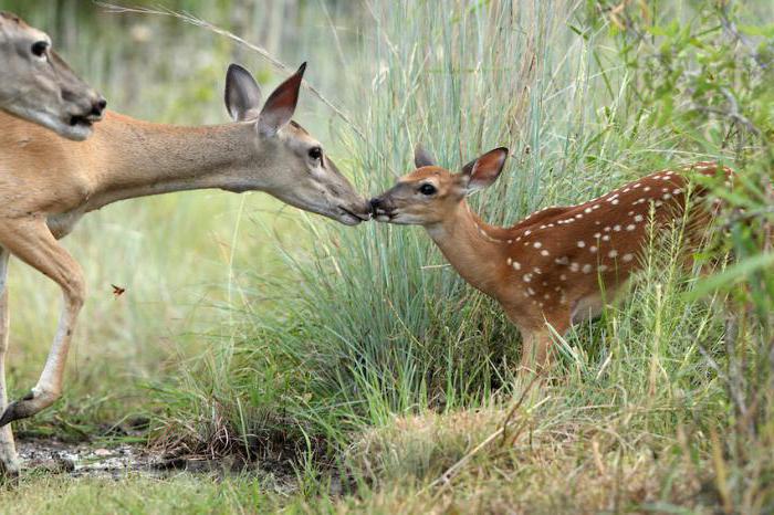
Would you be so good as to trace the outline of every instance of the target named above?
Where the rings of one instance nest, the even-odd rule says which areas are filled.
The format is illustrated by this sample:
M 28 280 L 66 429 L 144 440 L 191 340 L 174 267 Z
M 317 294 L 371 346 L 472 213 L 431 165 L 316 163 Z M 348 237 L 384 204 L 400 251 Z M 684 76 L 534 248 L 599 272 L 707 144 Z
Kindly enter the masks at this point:
M 736 171 L 732 191 L 713 187 L 726 207 L 722 252 L 735 263 L 692 295 L 728 296 L 725 354 L 707 356 L 728 393 L 717 481 L 724 508 L 746 512 L 757 485 L 746 483 L 750 474 L 774 474 L 774 25 L 756 11 L 771 9 L 724 0 L 687 13 L 624 6 L 589 2 L 587 13 L 611 21 L 651 123 L 674 130 L 686 149 L 723 153 Z

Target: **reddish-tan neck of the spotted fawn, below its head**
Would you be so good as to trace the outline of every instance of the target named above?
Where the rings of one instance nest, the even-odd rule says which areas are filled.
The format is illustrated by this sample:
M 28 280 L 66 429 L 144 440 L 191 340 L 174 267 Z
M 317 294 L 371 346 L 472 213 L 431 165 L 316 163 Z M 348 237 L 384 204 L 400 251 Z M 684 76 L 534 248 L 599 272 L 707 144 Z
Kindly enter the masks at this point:
M 499 296 L 506 245 L 493 234 L 501 230 L 484 223 L 464 199 L 442 222 L 426 229 L 462 278 L 490 296 Z

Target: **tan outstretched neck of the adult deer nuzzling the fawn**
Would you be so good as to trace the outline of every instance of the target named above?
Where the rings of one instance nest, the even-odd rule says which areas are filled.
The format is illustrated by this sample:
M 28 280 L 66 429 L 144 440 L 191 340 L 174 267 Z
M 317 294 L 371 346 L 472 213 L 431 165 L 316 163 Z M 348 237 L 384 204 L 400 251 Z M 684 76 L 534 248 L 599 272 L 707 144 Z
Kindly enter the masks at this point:
M 109 113 L 96 130 L 95 191 L 87 210 L 118 200 L 174 191 L 268 188 L 266 156 L 257 149 L 253 124 L 178 127 Z M 265 153 L 263 153 L 265 154 Z

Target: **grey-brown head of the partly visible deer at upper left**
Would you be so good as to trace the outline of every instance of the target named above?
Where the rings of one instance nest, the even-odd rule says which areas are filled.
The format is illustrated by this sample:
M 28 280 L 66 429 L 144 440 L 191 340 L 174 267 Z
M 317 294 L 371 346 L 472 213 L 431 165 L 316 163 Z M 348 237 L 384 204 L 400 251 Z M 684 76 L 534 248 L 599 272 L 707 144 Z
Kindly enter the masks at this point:
M 107 103 L 51 49 L 51 38 L 0 11 L 0 109 L 76 141 L 92 135 Z

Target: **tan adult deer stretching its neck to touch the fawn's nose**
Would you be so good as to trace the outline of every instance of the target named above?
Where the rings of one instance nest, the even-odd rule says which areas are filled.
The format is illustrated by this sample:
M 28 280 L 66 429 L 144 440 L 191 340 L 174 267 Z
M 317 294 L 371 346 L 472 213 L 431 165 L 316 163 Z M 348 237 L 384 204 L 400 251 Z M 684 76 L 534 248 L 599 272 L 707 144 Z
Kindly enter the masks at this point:
M 75 144 L 0 114 L 0 287 L 10 254 L 56 282 L 64 311 L 36 386 L 6 407 L 3 358 L 8 292 L 0 297 L 0 461 L 18 470 L 9 422 L 51 406 L 62 393 L 67 348 L 84 302 L 79 264 L 56 242 L 86 212 L 118 200 L 220 188 L 265 191 L 278 199 L 355 225 L 370 206 L 336 169 L 321 144 L 291 120 L 305 64 L 268 98 L 244 69 L 231 65 L 226 105 L 236 123 L 175 127 L 108 112 L 94 136 Z

